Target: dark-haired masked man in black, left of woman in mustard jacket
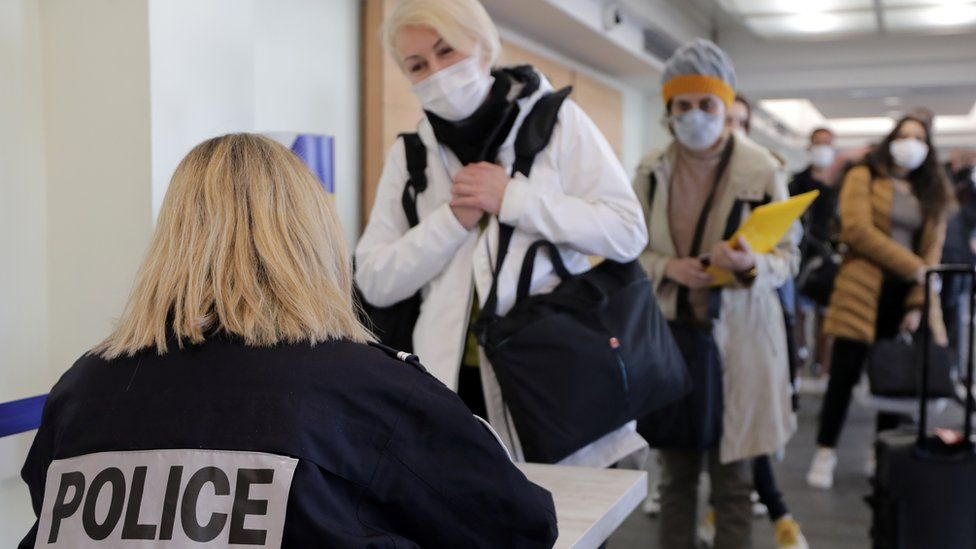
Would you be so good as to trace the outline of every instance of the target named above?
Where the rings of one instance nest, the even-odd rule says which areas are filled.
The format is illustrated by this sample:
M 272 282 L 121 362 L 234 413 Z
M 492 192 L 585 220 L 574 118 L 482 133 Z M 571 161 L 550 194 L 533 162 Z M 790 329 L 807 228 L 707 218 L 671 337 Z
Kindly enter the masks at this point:
M 837 158 L 834 149 L 834 132 L 827 128 L 816 128 L 810 132 L 810 165 L 807 169 L 796 174 L 790 182 L 790 194 L 798 195 L 810 191 L 820 191 L 820 196 L 814 201 L 813 205 L 803 216 L 804 237 L 800 244 L 802 256 L 801 264 L 805 267 L 809 261 L 815 257 L 829 259 L 830 246 L 833 242 L 835 228 L 834 218 L 837 213 L 837 189 L 836 180 L 831 177 L 831 168 Z M 801 272 L 804 271 L 801 267 Z M 804 288 L 799 288 L 800 298 L 799 310 L 797 311 L 799 326 L 806 325 L 806 315 L 816 314 L 817 318 L 817 341 L 814 349 L 814 369 L 820 372 L 828 371 L 830 365 L 830 352 L 827 348 L 829 341 L 820 331 L 823 321 L 823 313 L 826 308 L 825 297 L 823 295 L 810 295 L 804 292 Z M 805 341 L 805 330 L 797 330 L 800 340 L 801 355 L 806 358 L 809 351 Z M 818 372 L 819 373 L 819 372 Z

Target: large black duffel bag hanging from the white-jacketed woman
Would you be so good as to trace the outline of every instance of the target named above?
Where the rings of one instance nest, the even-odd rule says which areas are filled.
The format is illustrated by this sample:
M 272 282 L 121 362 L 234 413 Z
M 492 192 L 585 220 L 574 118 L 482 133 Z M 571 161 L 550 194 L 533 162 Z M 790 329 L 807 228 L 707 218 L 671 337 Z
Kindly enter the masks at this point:
M 535 242 L 522 263 L 515 305 L 497 315 L 498 272 L 512 233 L 501 229 L 495 280 L 475 328 L 527 461 L 558 462 L 691 389 L 637 261 L 606 260 L 573 275 L 554 244 Z M 540 248 L 561 283 L 529 295 Z

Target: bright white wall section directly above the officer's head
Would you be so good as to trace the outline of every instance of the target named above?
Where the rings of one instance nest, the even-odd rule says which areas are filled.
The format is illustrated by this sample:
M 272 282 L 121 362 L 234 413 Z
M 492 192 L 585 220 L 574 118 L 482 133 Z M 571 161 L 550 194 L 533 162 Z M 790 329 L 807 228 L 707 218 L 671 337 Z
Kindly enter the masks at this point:
M 335 137 L 336 201 L 359 232 L 359 2 L 150 0 L 153 212 L 197 143 L 238 131 Z

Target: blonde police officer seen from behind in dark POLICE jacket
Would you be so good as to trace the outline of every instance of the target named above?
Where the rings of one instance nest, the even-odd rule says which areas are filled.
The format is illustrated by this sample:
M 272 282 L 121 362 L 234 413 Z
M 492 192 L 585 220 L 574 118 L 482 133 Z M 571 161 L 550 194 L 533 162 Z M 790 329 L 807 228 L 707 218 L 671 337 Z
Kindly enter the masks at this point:
M 198 145 L 114 333 L 52 389 L 21 547 L 550 547 L 552 498 L 415 357 L 280 145 Z

